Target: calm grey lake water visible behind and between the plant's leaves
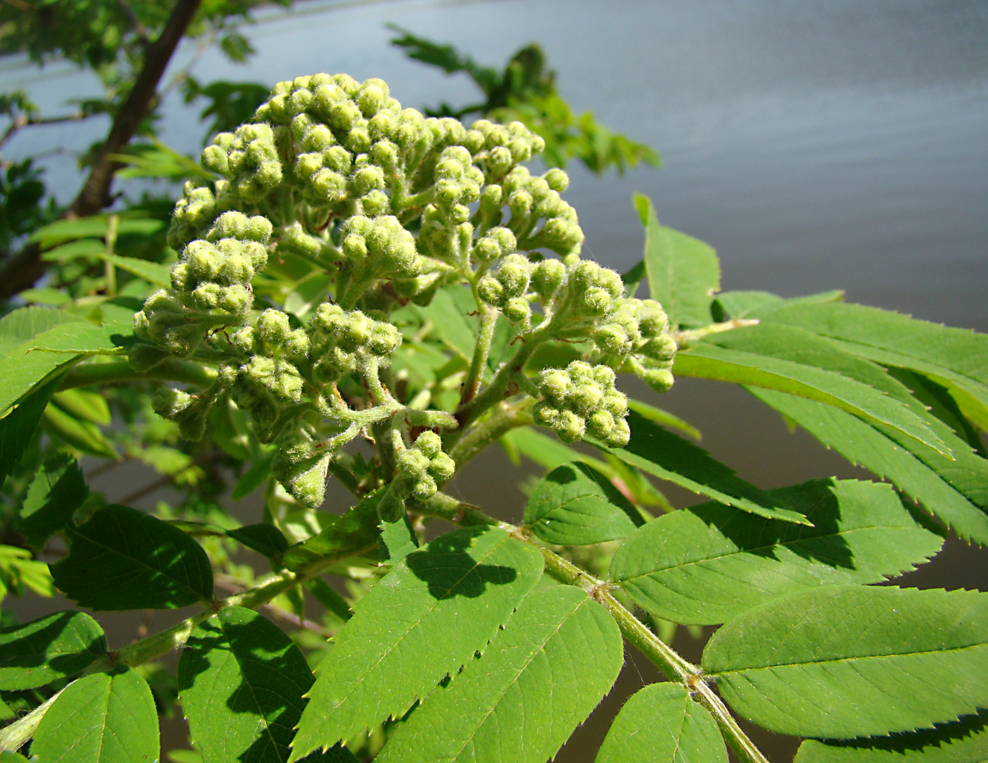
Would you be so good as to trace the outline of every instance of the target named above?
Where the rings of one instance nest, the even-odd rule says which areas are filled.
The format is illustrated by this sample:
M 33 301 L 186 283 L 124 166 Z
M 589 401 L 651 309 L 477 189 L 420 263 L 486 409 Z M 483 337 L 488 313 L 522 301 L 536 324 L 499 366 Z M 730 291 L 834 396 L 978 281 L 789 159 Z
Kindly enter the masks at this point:
M 950 0 L 400 0 L 314 2 L 268 12 L 257 54 L 235 66 L 207 53 L 194 69 L 275 82 L 316 71 L 387 80 L 406 106 L 465 103 L 475 92 L 387 44 L 387 22 L 503 63 L 537 41 L 577 111 L 661 151 L 660 170 L 597 178 L 571 167 L 567 198 L 590 253 L 624 269 L 640 257 L 634 191 L 659 218 L 714 245 L 724 289 L 851 300 L 988 331 L 988 4 Z M 178 64 L 194 54 L 183 48 Z M 52 107 L 92 90 L 64 65 L 0 69 Z M 193 152 L 204 136 L 171 96 L 164 139 Z M 24 132 L 7 158 L 82 147 L 106 126 Z M 70 173 L 53 173 L 66 194 Z M 737 389 L 685 380 L 660 401 L 697 423 L 702 444 L 765 487 L 863 475 Z M 510 515 L 522 494 L 497 454 L 454 489 Z M 696 499 L 676 494 L 678 502 Z M 149 497 L 148 505 L 153 505 Z M 517 519 L 517 517 L 515 517 Z M 253 521 L 256 521 L 254 519 Z M 983 551 L 952 543 L 909 584 L 984 587 Z M 689 650 L 688 642 L 677 644 Z M 693 658 L 697 654 L 688 654 Z M 644 660 L 629 656 L 617 710 Z M 560 760 L 592 759 L 606 724 L 581 730 Z M 583 755 L 581 755 L 581 748 Z M 791 749 L 791 747 L 789 748 Z M 782 759 L 785 754 L 774 756 Z

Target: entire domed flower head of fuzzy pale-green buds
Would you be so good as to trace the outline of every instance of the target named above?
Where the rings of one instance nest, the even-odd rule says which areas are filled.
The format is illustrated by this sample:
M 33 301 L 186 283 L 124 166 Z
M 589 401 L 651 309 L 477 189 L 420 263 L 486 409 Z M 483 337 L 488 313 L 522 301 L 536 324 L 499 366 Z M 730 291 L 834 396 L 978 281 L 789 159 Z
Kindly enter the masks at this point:
M 524 373 L 521 361 L 498 371 L 484 396 L 490 347 L 480 346 L 460 402 L 467 408 L 481 399 L 482 407 L 443 419 L 409 402 L 400 415 L 403 393 L 385 384 L 401 390 L 404 383 L 387 372 L 402 334 L 388 316 L 460 284 L 476 297 L 480 345 L 492 341 L 491 308 L 515 327 L 522 348 L 592 342 L 588 357 L 599 365 L 542 373 L 535 421 L 566 441 L 626 442 L 627 404 L 615 372 L 666 388 L 676 345 L 657 302 L 624 297 L 616 272 L 580 258 L 583 232 L 560 196 L 566 174 L 522 166 L 543 148 L 521 123 L 479 120 L 467 128 L 426 119 L 403 109 L 378 79 L 317 74 L 277 85 L 249 124 L 206 147 L 203 163 L 219 177 L 186 185 L 169 231 L 181 253 L 171 286 L 135 315 L 144 342 L 130 352 L 135 366 L 177 355 L 218 372 L 207 389 L 161 392 L 159 412 L 185 435 L 202 437 L 210 405 L 232 399 L 261 441 L 278 444 L 277 478 L 316 506 L 336 450 L 361 432 L 370 437 L 373 428 L 379 439 L 398 421 L 469 426 L 498 394 L 532 388 L 512 378 Z M 255 298 L 252 280 L 269 260 L 279 269 L 258 282 Z M 284 290 L 303 273 L 301 263 L 316 270 L 308 283 L 323 301 L 289 315 Z M 259 312 L 255 302 L 272 307 Z M 432 392 L 412 389 L 408 399 Z M 391 509 L 430 495 L 452 474 L 428 429 L 414 447 L 399 443 L 395 451 Z

